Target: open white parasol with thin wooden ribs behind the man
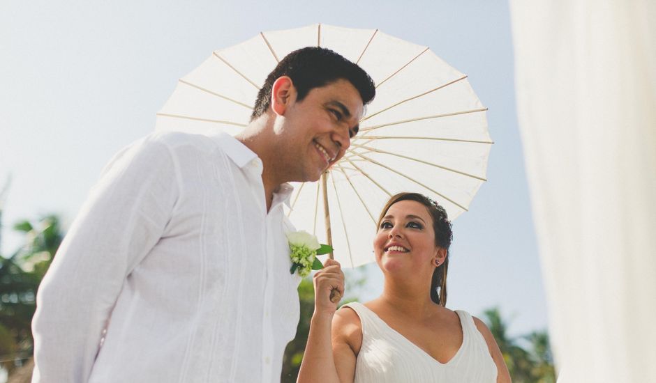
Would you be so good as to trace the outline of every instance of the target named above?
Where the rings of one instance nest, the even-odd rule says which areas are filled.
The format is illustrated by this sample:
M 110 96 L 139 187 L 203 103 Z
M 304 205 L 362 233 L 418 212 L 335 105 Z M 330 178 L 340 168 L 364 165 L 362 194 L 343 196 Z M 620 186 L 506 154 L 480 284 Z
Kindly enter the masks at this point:
M 308 46 L 360 65 L 374 80 L 376 96 L 346 155 L 322 182 L 295 185 L 289 212 L 295 226 L 331 243 L 344 267 L 357 267 L 374 260 L 375 221 L 389 196 L 426 194 L 452 220 L 468 210 L 486 180 L 492 144 L 487 109 L 467 77 L 430 49 L 377 29 L 314 24 L 262 32 L 215 51 L 179 80 L 157 114 L 157 129 L 236 134 L 248 125 L 269 72 Z

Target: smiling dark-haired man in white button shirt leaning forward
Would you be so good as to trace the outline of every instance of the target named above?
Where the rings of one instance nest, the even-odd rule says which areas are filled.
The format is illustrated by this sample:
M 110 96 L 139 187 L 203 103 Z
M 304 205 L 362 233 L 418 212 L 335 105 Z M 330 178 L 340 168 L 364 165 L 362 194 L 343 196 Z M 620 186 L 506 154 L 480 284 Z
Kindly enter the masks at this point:
M 114 157 L 38 291 L 33 382 L 278 382 L 299 320 L 286 182 L 340 159 L 374 94 L 299 49 L 237 137 L 151 134 Z

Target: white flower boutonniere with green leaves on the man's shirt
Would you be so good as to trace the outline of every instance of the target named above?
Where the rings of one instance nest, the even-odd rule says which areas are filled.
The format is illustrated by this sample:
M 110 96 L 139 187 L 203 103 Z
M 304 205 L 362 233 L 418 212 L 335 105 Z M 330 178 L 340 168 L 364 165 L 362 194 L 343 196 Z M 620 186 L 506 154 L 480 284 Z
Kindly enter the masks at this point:
M 333 249 L 327 244 L 320 244 L 317 237 L 304 230 L 287 233 L 290 244 L 292 268 L 290 274 L 298 272 L 301 277 L 310 274 L 310 270 L 320 270 L 323 265 L 317 256 L 330 253 Z

